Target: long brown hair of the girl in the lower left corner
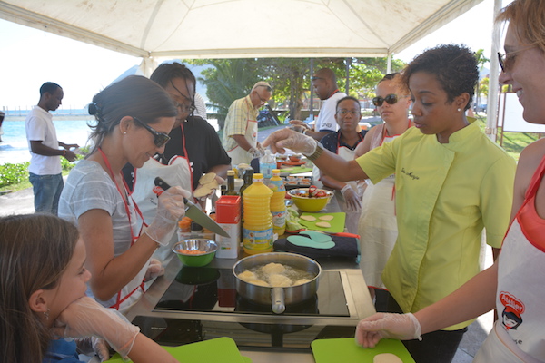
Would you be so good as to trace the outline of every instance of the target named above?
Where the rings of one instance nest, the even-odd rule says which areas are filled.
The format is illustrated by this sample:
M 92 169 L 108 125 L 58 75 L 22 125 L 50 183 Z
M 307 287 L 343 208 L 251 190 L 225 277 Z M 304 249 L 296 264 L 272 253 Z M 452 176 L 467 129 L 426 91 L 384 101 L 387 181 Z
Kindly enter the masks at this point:
M 78 236 L 73 224 L 51 214 L 0 218 L 1 361 L 42 361 L 52 337 L 29 299 L 59 284 Z

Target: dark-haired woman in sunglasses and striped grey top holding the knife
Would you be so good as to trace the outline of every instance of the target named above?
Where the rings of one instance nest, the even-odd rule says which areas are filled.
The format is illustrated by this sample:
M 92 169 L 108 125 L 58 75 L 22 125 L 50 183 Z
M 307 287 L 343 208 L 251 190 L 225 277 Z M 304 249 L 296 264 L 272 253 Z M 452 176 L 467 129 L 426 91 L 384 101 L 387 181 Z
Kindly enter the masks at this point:
M 157 199 L 154 220 L 141 231 L 142 214 L 127 192 L 121 170 L 140 167 L 168 142 L 176 108 L 157 84 L 129 76 L 93 98 L 94 150 L 70 172 L 59 216 L 77 225 L 85 242 L 85 266 L 93 274 L 88 295 L 106 307 L 126 309 L 143 293 L 142 282 L 161 273 L 149 260 L 166 245 L 183 217 L 183 196 L 173 187 Z M 139 221 L 140 220 L 140 221 Z

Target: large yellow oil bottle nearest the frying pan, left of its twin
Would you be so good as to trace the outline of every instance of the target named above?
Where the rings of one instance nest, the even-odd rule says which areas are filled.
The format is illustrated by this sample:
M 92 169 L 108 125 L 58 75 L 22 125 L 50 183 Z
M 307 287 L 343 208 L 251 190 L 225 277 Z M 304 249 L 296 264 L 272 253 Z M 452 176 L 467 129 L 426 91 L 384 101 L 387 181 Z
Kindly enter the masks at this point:
M 271 197 L 263 174 L 253 174 L 252 185 L 243 191 L 243 249 L 250 255 L 272 251 Z

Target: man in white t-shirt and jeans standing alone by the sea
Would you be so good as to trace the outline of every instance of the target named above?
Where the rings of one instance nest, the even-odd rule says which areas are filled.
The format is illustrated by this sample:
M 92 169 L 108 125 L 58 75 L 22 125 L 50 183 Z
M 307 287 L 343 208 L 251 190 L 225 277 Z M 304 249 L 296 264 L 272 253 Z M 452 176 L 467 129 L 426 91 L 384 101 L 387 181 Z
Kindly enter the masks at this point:
M 63 191 L 61 159 L 75 160 L 70 148 L 77 144 L 59 142 L 50 111 L 56 110 L 64 97 L 60 85 L 46 82 L 40 87 L 40 101 L 26 116 L 25 131 L 31 159 L 29 180 L 35 194 L 35 211 L 57 214 L 59 198 Z M 59 149 L 59 146 L 64 149 Z

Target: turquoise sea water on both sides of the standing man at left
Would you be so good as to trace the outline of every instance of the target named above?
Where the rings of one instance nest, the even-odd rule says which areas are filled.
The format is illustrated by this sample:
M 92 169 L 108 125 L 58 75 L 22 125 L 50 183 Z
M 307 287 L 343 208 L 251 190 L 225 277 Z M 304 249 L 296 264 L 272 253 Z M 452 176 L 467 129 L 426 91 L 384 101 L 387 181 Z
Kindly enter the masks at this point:
M 77 143 L 80 147 L 87 144 L 91 129 L 87 123 L 93 123 L 93 119 L 85 120 L 55 120 L 53 123 L 57 139 L 64 143 Z M 2 123 L 3 135 L 0 142 L 0 165 L 6 162 L 19 163 L 30 162 L 30 152 L 26 141 L 25 121 L 4 120 Z

